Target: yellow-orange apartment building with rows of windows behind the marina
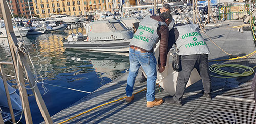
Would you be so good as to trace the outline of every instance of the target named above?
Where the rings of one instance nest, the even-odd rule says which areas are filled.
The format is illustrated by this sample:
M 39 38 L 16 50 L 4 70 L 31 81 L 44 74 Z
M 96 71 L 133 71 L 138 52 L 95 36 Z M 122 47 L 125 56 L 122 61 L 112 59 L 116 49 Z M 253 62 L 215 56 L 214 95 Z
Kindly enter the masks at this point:
M 114 1 L 118 3 L 118 0 Z M 112 4 L 112 0 L 38 0 L 33 6 L 34 13 L 45 18 L 53 14 L 78 16 L 93 11 L 111 11 Z

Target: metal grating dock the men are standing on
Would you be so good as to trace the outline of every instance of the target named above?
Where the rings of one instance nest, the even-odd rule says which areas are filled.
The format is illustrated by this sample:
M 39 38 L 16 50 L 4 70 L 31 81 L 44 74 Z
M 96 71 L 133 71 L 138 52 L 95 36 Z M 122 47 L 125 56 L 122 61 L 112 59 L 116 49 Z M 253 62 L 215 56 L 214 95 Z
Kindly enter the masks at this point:
M 237 32 L 233 26 L 242 25 L 242 20 L 220 22 L 220 26 L 206 26 L 206 34 L 224 51 L 235 56 L 243 56 L 256 50 L 251 31 Z M 202 33 L 201 33 L 202 34 Z M 228 59 L 230 56 L 216 47 L 208 37 L 202 34 L 211 54 L 209 60 Z M 247 59 L 209 62 L 211 64 L 232 63 L 249 67 L 256 65 L 256 56 Z M 125 97 L 128 72 L 83 97 L 70 107 L 58 112 L 51 118 L 54 123 L 66 121 L 102 104 Z M 251 90 L 252 78 L 216 78 L 212 79 L 212 100 L 205 100 L 201 93 L 201 80 L 185 90 L 182 106 L 176 107 L 164 102 L 153 108 L 146 107 L 146 83 L 139 83 L 139 72 L 135 86 L 135 98 L 126 103 L 125 98 L 84 113 L 65 123 L 256 123 L 256 104 Z M 156 98 L 169 96 L 156 86 Z M 75 97 L 75 96 L 74 96 Z M 46 103 L 47 104 L 47 103 Z M 44 123 L 44 122 L 42 122 Z

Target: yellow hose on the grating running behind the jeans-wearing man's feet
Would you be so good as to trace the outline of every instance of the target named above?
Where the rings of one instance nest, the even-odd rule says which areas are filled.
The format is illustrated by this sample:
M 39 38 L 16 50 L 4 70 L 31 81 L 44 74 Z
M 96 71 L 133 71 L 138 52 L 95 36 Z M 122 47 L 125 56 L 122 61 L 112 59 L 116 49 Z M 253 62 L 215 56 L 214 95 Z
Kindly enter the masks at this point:
M 160 82 L 160 81 L 162 81 L 162 80 L 159 80 L 158 82 Z M 156 83 L 156 85 L 158 85 L 158 84 L 159 84 L 159 83 Z M 138 91 L 138 92 L 134 93 L 134 95 L 135 95 L 135 94 L 138 94 L 138 93 L 140 93 L 140 92 L 142 92 L 142 91 L 144 91 L 144 90 L 146 90 L 146 89 L 147 89 L 147 88 L 145 88 L 145 89 L 143 89 L 143 90 L 141 90 L 141 91 Z M 72 119 L 74 119 L 74 118 L 76 118 L 76 117 L 79 117 L 79 116 L 81 116 L 81 115 L 83 115 L 83 114 L 85 114 L 85 113 L 87 113 L 87 112 L 90 112 L 90 111 L 92 111 L 92 110 L 94 110 L 94 109 L 97 109 L 97 108 L 99 108 L 99 107 L 102 107 L 102 106 L 104 106 L 104 105 L 108 105 L 108 104 L 110 104 L 110 103 L 123 100 L 123 99 L 126 98 L 126 97 L 127 97 L 127 96 L 122 97 L 122 98 L 119 98 L 119 99 L 114 100 L 114 101 L 111 101 L 111 102 L 108 102 L 108 103 L 105 103 L 105 104 L 102 104 L 102 105 L 99 105 L 99 106 L 97 106 L 97 107 L 95 107 L 95 108 L 92 108 L 92 109 L 90 109 L 90 110 L 88 110 L 88 111 L 85 111 L 85 112 L 83 112 L 83 113 L 81 113 L 81 114 L 78 114 L 78 115 L 76 115 L 76 116 L 74 116 L 74 117 L 72 117 L 72 118 L 70 118 L 70 119 L 67 119 L 67 120 L 65 120 L 65 121 L 63 121 L 63 122 L 60 122 L 59 124 L 68 122 L 68 121 L 70 121 L 70 120 L 72 120 Z

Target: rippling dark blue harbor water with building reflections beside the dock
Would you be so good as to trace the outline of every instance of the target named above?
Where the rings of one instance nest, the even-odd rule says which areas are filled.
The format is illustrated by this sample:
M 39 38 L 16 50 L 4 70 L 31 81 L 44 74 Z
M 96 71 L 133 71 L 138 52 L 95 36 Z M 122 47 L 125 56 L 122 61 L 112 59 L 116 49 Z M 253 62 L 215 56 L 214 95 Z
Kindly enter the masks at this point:
M 125 73 L 129 68 L 128 53 L 86 52 L 65 49 L 62 39 L 67 38 L 71 33 L 78 32 L 85 33 L 85 30 L 78 28 L 65 32 L 23 37 L 36 68 L 39 81 L 37 86 L 44 98 L 50 116 L 89 94 L 83 91 L 93 92 L 121 75 L 121 73 Z M 0 54 L 0 61 L 11 61 L 6 38 L 0 39 L 0 52 L 2 53 Z M 32 69 L 32 71 L 34 70 Z M 12 66 L 5 66 L 5 72 L 14 76 Z M 11 77 L 8 77 L 8 83 L 13 87 L 16 85 L 15 79 Z M 16 92 L 18 93 L 18 90 Z M 31 90 L 28 90 L 27 93 L 33 94 Z M 33 123 L 44 121 L 34 96 L 29 96 L 29 104 Z M 16 120 L 18 119 L 19 116 Z M 24 116 L 22 123 L 25 123 Z

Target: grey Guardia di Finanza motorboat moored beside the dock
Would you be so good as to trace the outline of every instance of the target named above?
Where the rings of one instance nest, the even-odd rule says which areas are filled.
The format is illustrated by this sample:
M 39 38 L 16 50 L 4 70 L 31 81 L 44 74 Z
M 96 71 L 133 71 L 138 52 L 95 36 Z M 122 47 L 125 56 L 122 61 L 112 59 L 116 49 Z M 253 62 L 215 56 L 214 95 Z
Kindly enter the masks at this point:
M 63 45 L 91 51 L 127 52 L 132 37 L 132 30 L 123 26 L 120 20 L 101 20 L 90 23 L 88 36 L 69 35 Z

